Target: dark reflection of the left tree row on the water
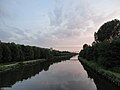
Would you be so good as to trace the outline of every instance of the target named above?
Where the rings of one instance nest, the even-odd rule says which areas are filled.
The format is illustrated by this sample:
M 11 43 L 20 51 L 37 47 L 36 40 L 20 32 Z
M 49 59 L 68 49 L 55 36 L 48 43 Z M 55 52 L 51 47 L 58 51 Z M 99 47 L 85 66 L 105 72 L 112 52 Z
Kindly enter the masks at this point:
M 47 61 L 42 63 L 37 63 L 35 65 L 21 66 L 13 71 L 1 72 L 0 73 L 0 90 L 2 87 L 12 87 L 18 81 L 24 81 L 35 75 L 39 74 L 41 71 L 49 70 L 50 65 L 58 63 L 61 61 L 69 60 L 70 57 L 64 58 L 63 60 Z

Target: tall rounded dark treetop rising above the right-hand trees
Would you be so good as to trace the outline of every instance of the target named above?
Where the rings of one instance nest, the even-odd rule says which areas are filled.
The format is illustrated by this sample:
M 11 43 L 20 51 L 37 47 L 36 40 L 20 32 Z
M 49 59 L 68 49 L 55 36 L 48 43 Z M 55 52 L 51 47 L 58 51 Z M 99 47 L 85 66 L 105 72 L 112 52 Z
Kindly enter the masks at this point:
M 103 24 L 94 37 L 96 42 L 111 41 L 114 37 L 120 37 L 120 21 L 115 19 Z

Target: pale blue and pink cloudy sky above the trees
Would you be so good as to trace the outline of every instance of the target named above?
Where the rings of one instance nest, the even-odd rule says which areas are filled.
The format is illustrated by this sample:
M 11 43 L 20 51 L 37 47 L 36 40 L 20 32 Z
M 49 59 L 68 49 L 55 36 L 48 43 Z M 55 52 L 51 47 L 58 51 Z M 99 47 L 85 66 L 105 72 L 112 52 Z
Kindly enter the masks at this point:
M 113 19 L 120 0 L 0 0 L 0 40 L 80 51 Z

